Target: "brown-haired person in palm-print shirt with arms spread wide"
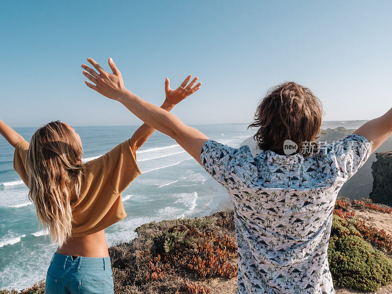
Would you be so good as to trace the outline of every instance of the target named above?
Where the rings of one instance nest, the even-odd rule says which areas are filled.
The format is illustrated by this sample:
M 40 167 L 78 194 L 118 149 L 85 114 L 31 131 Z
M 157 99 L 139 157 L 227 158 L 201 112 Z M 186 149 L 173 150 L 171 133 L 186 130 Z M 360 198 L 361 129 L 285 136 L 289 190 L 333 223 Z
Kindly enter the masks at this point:
M 236 224 L 238 294 L 335 293 L 327 248 L 336 196 L 392 134 L 392 109 L 334 145 L 309 144 L 320 132 L 321 102 L 309 88 L 283 83 L 256 109 L 251 126 L 258 128 L 260 153 L 254 157 L 248 146 L 210 140 L 128 91 L 112 61 L 113 73 L 90 63 L 99 75 L 82 66 L 94 83 L 86 81 L 88 87 L 171 136 L 227 189 Z M 285 152 L 286 140 L 298 146 L 295 153 Z

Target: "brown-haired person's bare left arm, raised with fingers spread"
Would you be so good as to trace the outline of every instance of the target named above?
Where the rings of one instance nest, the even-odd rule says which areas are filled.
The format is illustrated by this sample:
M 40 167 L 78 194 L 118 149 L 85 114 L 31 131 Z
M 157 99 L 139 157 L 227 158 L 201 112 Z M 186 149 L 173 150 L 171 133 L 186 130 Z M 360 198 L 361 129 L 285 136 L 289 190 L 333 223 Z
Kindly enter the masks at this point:
M 208 140 L 200 131 L 182 123 L 174 115 L 168 111 L 146 102 L 142 98 L 128 91 L 123 84 L 123 78 L 117 69 L 113 60 L 109 58 L 109 66 L 113 73 L 105 72 L 97 62 L 93 59 L 87 59 L 98 71 L 96 75 L 89 77 L 96 85 L 85 81 L 86 85 L 91 89 L 108 98 L 120 101 L 134 115 L 143 122 L 158 131 L 172 137 L 181 147 L 183 147 L 190 155 L 192 155 L 198 163 L 200 163 L 201 148 Z M 93 71 L 94 72 L 94 71 Z M 196 84 L 193 88 L 185 87 L 185 91 L 195 92 L 201 83 Z

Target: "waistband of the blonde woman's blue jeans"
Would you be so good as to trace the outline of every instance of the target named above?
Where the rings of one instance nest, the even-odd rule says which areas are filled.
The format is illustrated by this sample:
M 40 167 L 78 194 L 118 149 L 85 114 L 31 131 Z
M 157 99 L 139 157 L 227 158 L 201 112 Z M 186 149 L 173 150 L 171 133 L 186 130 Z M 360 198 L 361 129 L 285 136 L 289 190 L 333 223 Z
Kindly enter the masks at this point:
M 65 268 L 77 267 L 90 269 L 111 269 L 110 257 L 84 257 L 77 256 L 74 260 L 70 255 L 54 253 L 50 264 Z

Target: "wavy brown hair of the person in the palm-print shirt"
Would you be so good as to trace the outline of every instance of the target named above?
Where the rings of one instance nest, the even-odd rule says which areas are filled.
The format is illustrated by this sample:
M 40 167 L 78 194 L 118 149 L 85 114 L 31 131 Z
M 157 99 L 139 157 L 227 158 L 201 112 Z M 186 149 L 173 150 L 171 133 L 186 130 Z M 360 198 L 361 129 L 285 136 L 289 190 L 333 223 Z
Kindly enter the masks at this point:
M 283 154 L 283 143 L 289 139 L 303 152 L 304 142 L 319 138 L 322 114 L 321 101 L 309 88 L 286 82 L 260 101 L 248 128 L 258 127 L 254 139 L 262 150 Z

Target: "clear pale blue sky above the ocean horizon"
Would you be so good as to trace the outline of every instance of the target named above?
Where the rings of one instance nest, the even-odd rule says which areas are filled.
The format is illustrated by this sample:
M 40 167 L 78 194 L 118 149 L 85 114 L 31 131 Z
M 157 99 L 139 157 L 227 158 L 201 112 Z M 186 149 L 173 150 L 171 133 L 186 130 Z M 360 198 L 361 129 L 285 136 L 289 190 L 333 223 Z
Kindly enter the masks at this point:
M 0 118 L 13 126 L 136 125 L 84 85 L 80 64 L 112 57 L 125 86 L 155 104 L 187 74 L 203 83 L 174 114 L 250 122 L 273 85 L 321 98 L 325 120 L 392 106 L 391 1 L 1 1 Z

